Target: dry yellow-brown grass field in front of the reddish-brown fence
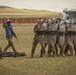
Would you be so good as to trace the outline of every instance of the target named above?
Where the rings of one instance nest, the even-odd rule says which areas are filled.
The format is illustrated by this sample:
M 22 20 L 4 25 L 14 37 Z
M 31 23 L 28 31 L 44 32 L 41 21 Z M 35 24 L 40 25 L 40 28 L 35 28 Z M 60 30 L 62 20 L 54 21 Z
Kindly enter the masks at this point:
M 0 59 L 0 75 L 76 75 L 76 56 L 40 58 L 38 44 L 34 58 L 30 58 L 33 27 L 35 24 L 13 24 L 19 41 L 13 38 L 18 52 L 26 52 L 24 57 L 3 57 Z M 5 30 L 0 25 L 0 46 L 7 44 Z M 47 50 L 47 48 L 46 48 Z M 8 51 L 12 51 L 11 48 Z

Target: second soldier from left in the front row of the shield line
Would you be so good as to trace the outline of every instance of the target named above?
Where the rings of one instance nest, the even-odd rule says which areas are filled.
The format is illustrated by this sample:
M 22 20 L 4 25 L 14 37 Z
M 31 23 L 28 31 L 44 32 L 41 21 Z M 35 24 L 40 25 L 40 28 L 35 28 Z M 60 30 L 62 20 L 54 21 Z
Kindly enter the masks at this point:
M 51 51 L 53 52 L 53 57 L 56 55 L 56 37 L 57 37 L 57 27 L 55 18 L 48 19 L 48 29 L 47 29 L 47 43 L 49 45 L 48 55 L 50 55 Z

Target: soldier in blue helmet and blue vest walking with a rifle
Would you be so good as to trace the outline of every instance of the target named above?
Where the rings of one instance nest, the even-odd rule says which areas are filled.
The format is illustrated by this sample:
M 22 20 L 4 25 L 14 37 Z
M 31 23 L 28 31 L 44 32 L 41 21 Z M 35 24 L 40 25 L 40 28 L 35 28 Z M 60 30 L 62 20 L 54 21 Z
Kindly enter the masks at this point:
M 3 54 L 6 54 L 6 51 L 9 47 L 12 47 L 13 51 L 17 52 L 16 49 L 14 48 L 14 44 L 12 42 L 12 36 L 14 36 L 15 38 L 17 38 L 17 36 L 15 35 L 15 33 L 13 31 L 13 26 L 11 25 L 11 20 L 7 19 L 6 23 L 3 24 L 3 27 L 5 28 L 6 38 L 8 41 L 8 45 L 3 50 Z

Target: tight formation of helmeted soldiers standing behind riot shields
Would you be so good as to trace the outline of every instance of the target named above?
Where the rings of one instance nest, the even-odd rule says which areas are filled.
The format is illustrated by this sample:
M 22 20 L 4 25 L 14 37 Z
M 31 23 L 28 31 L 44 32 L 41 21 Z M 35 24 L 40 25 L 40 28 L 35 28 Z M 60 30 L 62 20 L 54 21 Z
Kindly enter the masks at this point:
M 34 27 L 34 40 L 31 57 L 38 43 L 41 45 L 40 57 L 46 57 L 46 46 L 48 45 L 48 56 L 53 52 L 53 57 L 58 55 L 66 56 L 70 50 L 71 56 L 76 55 L 76 21 L 70 18 L 66 10 L 60 15 L 60 19 L 49 18 L 44 23 L 44 19 L 39 18 L 38 24 Z

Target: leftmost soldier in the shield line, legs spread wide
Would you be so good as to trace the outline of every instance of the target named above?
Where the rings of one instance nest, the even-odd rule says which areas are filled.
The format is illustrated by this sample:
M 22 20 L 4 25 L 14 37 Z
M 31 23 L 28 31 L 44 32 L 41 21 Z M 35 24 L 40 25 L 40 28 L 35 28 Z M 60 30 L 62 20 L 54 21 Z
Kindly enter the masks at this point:
M 35 33 L 35 36 L 34 36 L 34 41 L 33 41 L 33 47 L 32 47 L 32 51 L 31 51 L 31 57 L 34 56 L 34 51 L 35 51 L 35 48 L 37 46 L 38 43 L 41 44 L 41 57 L 42 56 L 45 56 L 45 43 L 44 43 L 44 26 L 43 26 L 43 19 L 42 18 L 39 18 L 38 19 L 38 24 L 35 25 L 34 27 L 34 33 Z

